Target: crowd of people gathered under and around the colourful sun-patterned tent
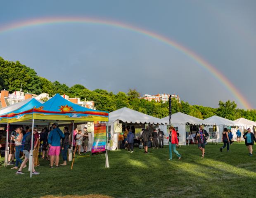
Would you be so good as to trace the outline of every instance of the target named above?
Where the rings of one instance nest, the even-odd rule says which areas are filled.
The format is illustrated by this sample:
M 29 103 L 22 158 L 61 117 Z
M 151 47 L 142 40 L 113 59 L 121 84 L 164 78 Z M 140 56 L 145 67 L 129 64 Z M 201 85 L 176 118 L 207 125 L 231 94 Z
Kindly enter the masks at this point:
M 11 130 L 9 134 L 9 156 L 7 165 L 14 165 L 14 157 L 16 159 L 15 166 L 11 169 L 18 169 L 16 174 L 24 174 L 22 169 L 27 167 L 26 163 L 29 161 L 29 156 L 31 152 L 31 142 L 32 144 L 32 174 L 40 174 L 35 171 L 35 167 L 40 166 L 38 151 L 42 152 L 42 158 L 50 161 L 50 168 L 66 166 L 67 165 L 67 151 L 71 147 L 71 138 L 69 133 L 69 128 L 64 127 L 63 132 L 59 129 L 59 124 L 54 123 L 48 130 L 45 127 L 40 133 L 36 126 L 33 127 L 33 140 L 32 139 L 32 127 L 17 127 Z M 84 153 L 88 152 L 88 140 L 89 135 L 87 128 L 83 128 L 83 133 L 81 130 L 75 128 L 73 131 L 73 146 L 75 152 L 75 146 L 77 147 L 78 155 L 80 154 L 81 145 L 83 146 Z M 0 144 L 0 148 L 2 145 Z M 59 154 L 62 154 L 63 163 L 59 164 Z M 20 158 L 20 156 L 22 156 Z M 22 161 L 22 159 L 24 159 Z M 21 164 L 19 167 L 19 163 Z

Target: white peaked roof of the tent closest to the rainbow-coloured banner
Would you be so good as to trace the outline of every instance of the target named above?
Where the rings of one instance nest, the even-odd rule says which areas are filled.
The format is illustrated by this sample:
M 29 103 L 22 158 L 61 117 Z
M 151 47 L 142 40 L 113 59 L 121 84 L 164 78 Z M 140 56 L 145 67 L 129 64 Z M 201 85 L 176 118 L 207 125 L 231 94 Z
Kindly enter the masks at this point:
M 120 108 L 119 110 L 109 113 L 109 123 L 114 123 L 116 120 L 121 120 L 127 123 L 149 123 L 149 124 L 168 124 L 168 121 L 155 118 L 138 111 L 134 111 L 130 108 Z

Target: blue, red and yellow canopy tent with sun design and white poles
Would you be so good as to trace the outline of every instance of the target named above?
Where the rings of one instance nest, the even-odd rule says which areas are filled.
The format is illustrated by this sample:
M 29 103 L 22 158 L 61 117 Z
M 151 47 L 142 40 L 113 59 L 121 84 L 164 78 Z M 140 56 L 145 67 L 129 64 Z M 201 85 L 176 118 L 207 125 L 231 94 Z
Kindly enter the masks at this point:
M 89 108 L 85 108 L 74 104 L 59 94 L 56 94 L 50 100 L 44 104 L 38 104 L 31 106 L 32 108 L 27 111 L 14 111 L 11 115 L 8 115 L 8 123 L 14 123 L 25 120 L 32 121 L 32 131 L 34 126 L 34 120 L 44 123 L 56 123 L 70 121 L 108 121 L 108 112 L 97 111 Z M 72 130 L 73 137 L 73 130 Z M 32 133 L 33 139 L 33 133 Z M 73 140 L 73 138 L 72 138 Z M 31 149 L 32 149 L 31 145 Z M 72 154 L 72 152 L 71 152 Z M 32 161 L 32 160 L 31 160 Z M 32 172 L 31 172 L 32 176 Z

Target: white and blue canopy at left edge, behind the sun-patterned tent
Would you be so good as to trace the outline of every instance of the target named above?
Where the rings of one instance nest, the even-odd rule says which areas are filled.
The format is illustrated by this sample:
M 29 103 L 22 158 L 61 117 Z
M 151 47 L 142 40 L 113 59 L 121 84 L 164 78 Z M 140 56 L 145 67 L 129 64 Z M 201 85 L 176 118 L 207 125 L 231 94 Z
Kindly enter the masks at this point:
M 5 108 L 1 108 L 0 109 L 0 123 L 6 123 L 7 124 L 7 114 L 12 113 L 13 111 L 16 111 L 17 109 L 21 109 L 23 107 L 28 107 L 28 106 L 31 106 L 31 105 L 37 106 L 37 105 L 40 105 L 40 104 L 43 104 L 43 103 L 44 103 L 43 101 L 39 101 L 39 100 L 36 100 L 34 98 L 30 98 L 30 99 L 26 99 L 24 101 L 18 102 L 16 104 L 12 104 L 10 106 L 7 106 Z M 33 106 L 31 108 L 33 108 Z M 29 110 L 29 108 L 25 108 L 25 109 Z

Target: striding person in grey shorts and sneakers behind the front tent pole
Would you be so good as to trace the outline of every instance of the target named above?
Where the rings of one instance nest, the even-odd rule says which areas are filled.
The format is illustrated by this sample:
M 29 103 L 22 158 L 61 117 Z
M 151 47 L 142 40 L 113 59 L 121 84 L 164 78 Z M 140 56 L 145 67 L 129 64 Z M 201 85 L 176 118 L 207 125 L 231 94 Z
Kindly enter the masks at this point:
M 33 131 L 33 134 L 36 134 L 37 130 Z M 31 143 L 33 144 L 34 148 L 34 143 L 35 143 L 35 138 L 33 137 L 32 139 L 32 133 L 27 133 L 26 139 L 25 139 L 25 143 L 24 143 L 24 150 L 23 153 L 25 154 L 25 159 L 22 162 L 21 166 L 19 167 L 19 170 L 16 172 L 16 174 L 24 174 L 23 172 L 21 172 L 21 170 L 23 168 L 26 167 L 26 163 L 29 161 L 29 156 L 30 156 L 30 149 L 31 149 Z M 35 167 L 34 167 L 34 158 L 32 158 L 32 174 L 40 174 L 40 172 L 36 172 L 35 171 Z

